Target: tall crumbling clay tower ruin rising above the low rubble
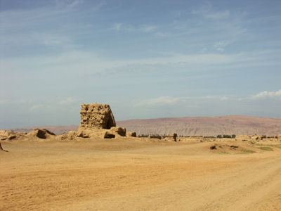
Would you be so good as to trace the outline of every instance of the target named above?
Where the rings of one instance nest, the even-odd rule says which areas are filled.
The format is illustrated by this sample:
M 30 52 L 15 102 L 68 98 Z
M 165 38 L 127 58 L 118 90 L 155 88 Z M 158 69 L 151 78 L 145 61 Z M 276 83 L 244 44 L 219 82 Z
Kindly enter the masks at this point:
M 91 103 L 81 104 L 81 124 L 78 130 L 87 129 L 110 129 L 115 127 L 115 118 L 110 105 Z

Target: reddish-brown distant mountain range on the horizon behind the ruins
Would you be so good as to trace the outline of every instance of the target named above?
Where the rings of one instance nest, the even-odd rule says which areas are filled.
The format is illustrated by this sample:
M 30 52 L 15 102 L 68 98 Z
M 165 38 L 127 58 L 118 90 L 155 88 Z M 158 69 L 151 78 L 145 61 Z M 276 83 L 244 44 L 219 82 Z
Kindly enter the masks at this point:
M 55 134 L 76 130 L 77 125 L 44 126 Z M 172 134 L 183 136 L 216 136 L 218 134 L 254 135 L 281 134 L 281 119 L 231 115 L 223 117 L 169 117 L 146 120 L 125 120 L 117 122 L 117 127 L 137 134 Z M 13 129 L 15 132 L 30 132 L 37 127 Z

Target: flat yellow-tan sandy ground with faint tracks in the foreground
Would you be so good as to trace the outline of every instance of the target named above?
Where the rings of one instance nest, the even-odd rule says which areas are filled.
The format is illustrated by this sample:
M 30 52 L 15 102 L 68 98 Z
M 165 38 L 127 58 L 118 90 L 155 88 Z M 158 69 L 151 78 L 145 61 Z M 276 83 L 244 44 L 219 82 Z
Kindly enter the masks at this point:
M 281 210 L 280 142 L 1 143 L 0 210 Z

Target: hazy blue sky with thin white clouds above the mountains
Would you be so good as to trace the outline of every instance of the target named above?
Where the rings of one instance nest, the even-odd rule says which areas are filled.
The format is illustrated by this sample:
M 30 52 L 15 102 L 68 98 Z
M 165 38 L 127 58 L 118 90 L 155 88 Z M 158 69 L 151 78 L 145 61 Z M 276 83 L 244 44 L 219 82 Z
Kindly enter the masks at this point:
M 0 129 L 281 117 L 281 1 L 0 0 Z

